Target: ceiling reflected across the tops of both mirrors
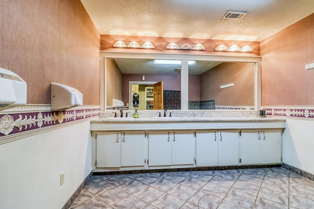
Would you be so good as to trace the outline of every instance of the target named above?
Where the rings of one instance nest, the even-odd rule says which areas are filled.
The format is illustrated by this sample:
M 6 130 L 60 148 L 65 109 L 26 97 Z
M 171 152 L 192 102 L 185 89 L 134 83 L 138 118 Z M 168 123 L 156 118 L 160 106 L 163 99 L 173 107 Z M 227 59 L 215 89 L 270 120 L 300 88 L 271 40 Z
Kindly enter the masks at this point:
M 114 59 L 122 74 L 180 74 L 181 65 L 154 64 L 153 59 Z M 188 65 L 190 75 L 200 75 L 221 62 L 196 61 Z

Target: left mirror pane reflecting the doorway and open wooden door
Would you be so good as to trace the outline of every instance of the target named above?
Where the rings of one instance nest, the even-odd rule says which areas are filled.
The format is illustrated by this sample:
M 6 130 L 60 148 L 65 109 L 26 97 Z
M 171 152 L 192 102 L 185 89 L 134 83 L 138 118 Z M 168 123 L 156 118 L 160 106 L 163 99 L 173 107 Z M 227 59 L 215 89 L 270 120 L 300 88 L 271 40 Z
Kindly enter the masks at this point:
M 138 110 L 181 109 L 181 64 L 154 64 L 153 59 L 106 59 L 106 106 L 112 108 L 111 98 L 122 100 L 124 109 L 134 109 L 131 95 L 139 94 Z M 162 98 L 154 108 L 154 96 L 149 96 L 153 84 L 162 81 Z M 131 83 L 131 84 L 130 84 Z M 110 89 L 109 89 L 110 88 Z M 155 98 L 156 100 L 157 98 Z M 161 105 L 160 105 L 161 103 Z

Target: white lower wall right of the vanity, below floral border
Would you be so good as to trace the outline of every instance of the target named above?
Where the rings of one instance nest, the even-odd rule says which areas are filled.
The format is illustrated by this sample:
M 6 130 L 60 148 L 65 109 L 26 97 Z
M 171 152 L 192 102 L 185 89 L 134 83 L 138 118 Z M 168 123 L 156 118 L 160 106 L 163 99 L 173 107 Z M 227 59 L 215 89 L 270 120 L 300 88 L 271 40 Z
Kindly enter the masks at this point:
M 314 121 L 287 119 L 283 162 L 314 174 Z

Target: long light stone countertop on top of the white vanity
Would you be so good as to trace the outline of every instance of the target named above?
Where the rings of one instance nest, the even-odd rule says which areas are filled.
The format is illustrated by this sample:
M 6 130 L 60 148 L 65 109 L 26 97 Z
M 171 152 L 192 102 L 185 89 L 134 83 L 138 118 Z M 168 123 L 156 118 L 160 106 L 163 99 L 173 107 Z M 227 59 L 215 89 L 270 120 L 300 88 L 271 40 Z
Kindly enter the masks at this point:
M 286 119 L 272 117 L 153 117 L 153 118 L 94 118 L 91 123 L 97 122 L 211 122 L 211 121 L 285 121 Z

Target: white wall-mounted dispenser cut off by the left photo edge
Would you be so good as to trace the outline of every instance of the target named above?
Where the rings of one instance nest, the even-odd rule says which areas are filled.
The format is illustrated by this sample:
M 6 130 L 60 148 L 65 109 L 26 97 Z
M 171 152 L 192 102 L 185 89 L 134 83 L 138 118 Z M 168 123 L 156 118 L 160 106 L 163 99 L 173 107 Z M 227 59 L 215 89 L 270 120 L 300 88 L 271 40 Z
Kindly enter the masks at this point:
M 26 104 L 26 82 L 15 73 L 0 68 L 0 108 Z

